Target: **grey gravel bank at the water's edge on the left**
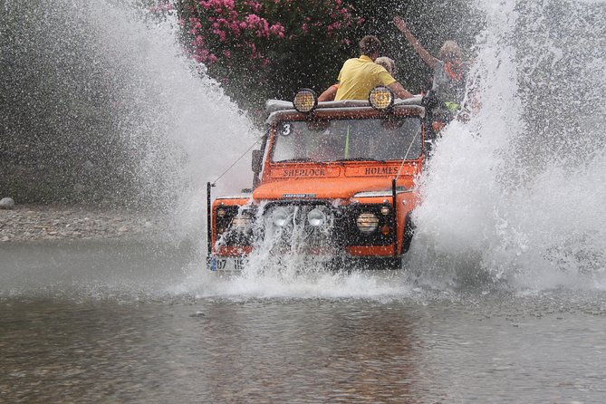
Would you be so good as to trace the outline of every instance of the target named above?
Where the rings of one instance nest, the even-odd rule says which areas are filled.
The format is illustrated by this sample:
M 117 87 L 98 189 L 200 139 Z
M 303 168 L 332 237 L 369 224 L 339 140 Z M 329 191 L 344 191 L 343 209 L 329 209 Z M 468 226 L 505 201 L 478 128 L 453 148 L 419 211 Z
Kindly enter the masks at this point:
M 16 206 L 0 209 L 0 244 L 34 240 L 142 238 L 159 234 L 166 219 L 153 213 L 90 207 Z

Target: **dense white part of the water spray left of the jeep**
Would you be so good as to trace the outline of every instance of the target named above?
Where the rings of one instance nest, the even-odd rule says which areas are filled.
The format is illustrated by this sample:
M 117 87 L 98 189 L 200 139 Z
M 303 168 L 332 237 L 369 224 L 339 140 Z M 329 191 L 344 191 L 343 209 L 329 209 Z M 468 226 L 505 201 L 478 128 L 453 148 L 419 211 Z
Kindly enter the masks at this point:
M 205 67 L 183 53 L 176 14 L 164 14 L 159 21 L 135 6 L 112 8 L 104 2 L 90 5 L 90 12 L 100 25 L 112 22 L 101 33 L 106 52 L 128 72 L 120 93 L 129 106 L 126 131 L 131 139 L 139 139 L 146 153 L 139 176 L 148 178 L 145 188 L 150 191 L 158 188 L 158 178 L 168 183 L 171 195 L 180 198 L 171 204 L 178 209 L 173 233 L 200 238 L 206 182 L 223 174 L 258 134 L 243 111 L 207 77 Z M 236 165 L 215 191 L 250 187 L 247 163 L 243 159 Z

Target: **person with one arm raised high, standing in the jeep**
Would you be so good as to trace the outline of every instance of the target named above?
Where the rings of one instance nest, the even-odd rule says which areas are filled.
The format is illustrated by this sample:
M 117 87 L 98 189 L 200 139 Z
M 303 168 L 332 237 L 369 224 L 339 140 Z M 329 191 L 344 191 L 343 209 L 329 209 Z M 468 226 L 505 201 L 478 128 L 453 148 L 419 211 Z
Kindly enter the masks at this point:
M 434 57 L 418 42 L 401 18 L 396 16 L 393 22 L 433 70 L 431 90 L 425 101 L 428 108 L 433 110 L 434 120 L 441 120 L 446 124 L 463 109 L 468 63 L 463 62 L 461 49 L 455 41 L 446 41 L 440 48 L 438 57 Z

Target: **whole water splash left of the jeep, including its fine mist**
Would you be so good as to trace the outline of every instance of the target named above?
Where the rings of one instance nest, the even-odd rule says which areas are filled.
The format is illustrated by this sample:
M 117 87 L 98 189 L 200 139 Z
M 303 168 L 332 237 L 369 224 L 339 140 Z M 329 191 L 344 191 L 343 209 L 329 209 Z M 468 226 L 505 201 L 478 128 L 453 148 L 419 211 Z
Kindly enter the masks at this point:
M 14 136 L 29 139 L 41 132 L 40 139 L 53 141 L 69 133 L 91 139 L 85 146 L 74 141 L 80 149 L 58 145 L 53 161 L 61 164 L 80 153 L 89 161 L 70 172 L 77 173 L 74 178 L 89 171 L 108 177 L 95 190 L 101 197 L 131 178 L 125 187 L 144 205 L 178 209 L 175 227 L 182 235 L 203 234 L 204 198 L 198 190 L 257 135 L 205 67 L 184 54 L 175 12 L 153 14 L 137 0 L 7 1 L 2 8 L 10 24 L 0 31 L 11 35 L 2 42 L 3 65 L 24 84 L 13 90 L 27 92 L 17 98 L 27 104 L 27 122 L 34 128 L 21 130 L 19 111 L 11 110 L 3 120 L 16 120 Z M 45 135 L 53 130 L 54 138 Z M 245 163 L 233 171 L 245 174 L 227 176 L 217 190 L 227 184 L 249 187 Z

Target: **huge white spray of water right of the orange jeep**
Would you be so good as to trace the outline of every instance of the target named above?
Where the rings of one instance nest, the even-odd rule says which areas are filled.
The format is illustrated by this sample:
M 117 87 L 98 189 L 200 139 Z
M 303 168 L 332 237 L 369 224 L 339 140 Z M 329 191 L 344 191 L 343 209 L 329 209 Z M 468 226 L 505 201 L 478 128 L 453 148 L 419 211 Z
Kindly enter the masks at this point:
M 603 287 L 604 4 L 480 6 L 482 109 L 439 141 L 409 265 L 428 282 Z

